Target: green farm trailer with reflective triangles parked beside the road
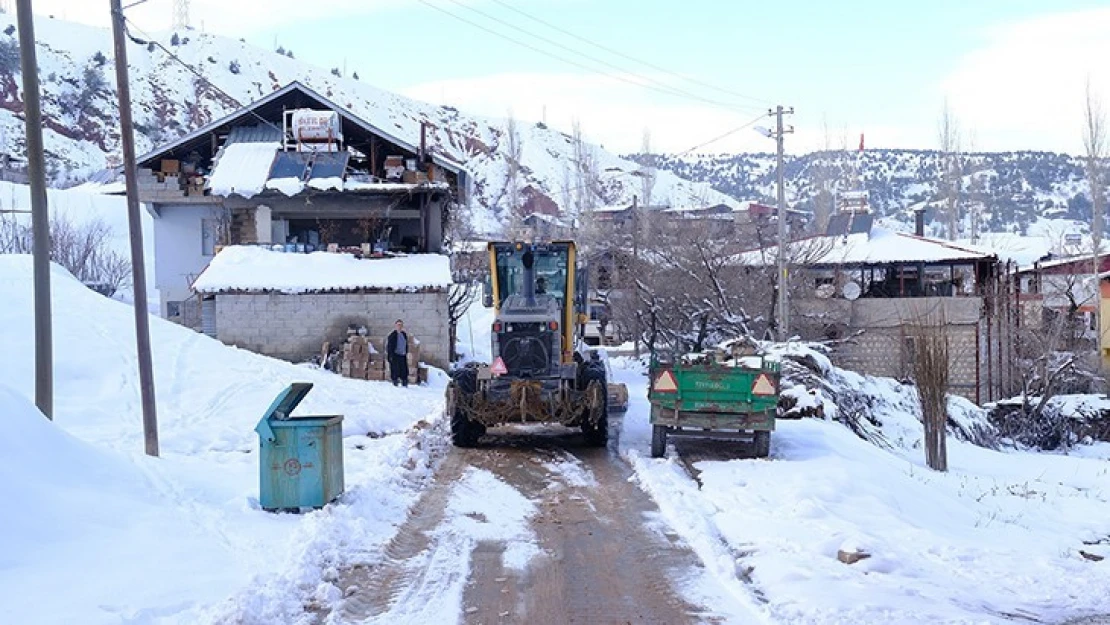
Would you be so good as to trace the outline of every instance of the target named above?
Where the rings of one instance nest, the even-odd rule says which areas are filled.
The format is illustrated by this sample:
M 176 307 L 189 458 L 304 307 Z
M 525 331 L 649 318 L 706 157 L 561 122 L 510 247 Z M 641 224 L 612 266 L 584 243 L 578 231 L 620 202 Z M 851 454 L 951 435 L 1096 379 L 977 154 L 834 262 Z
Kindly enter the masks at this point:
M 663 456 L 668 436 L 748 441 L 757 457 L 770 455 L 780 371 L 778 361 L 761 355 L 653 363 L 652 457 Z

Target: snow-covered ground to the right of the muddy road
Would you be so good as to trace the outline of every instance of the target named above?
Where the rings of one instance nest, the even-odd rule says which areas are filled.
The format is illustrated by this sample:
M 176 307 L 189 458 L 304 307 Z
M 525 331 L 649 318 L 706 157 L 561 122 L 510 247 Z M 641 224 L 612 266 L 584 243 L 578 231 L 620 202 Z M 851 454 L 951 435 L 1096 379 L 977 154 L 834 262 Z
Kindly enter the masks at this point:
M 884 425 L 894 443 L 884 448 L 805 419 L 779 422 L 769 462 L 725 450 L 695 463 L 695 482 L 674 445 L 649 457 L 642 365 L 610 366 L 630 394 L 620 453 L 707 568 L 760 602 L 769 622 L 1057 623 L 1110 613 L 1110 560 L 1079 553 L 1110 557 L 1106 447 L 1089 457 L 998 452 L 950 436 L 941 474 L 925 467 L 920 433 L 905 423 Z M 837 552 L 850 548 L 871 557 L 841 564 Z

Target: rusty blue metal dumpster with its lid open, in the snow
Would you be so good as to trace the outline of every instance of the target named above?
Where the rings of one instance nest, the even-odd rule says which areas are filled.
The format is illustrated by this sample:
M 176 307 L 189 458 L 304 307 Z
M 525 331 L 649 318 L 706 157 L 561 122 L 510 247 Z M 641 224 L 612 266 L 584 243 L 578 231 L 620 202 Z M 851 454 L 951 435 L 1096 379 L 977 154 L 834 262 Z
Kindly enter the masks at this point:
M 311 390 L 310 382 L 290 384 L 254 426 L 262 510 L 323 507 L 343 493 L 343 416 L 292 416 Z

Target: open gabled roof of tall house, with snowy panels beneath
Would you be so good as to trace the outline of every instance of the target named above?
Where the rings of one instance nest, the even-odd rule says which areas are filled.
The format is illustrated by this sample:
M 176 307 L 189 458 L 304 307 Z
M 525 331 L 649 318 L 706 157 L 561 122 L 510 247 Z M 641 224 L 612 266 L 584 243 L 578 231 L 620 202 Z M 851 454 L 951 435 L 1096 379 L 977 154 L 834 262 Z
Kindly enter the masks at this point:
M 294 195 L 306 187 L 326 191 L 412 191 L 446 189 L 443 181 L 402 183 L 367 183 L 345 180 L 350 154 L 314 152 L 280 152 L 283 140 L 283 111 L 291 109 L 331 110 L 339 114 L 347 145 L 363 153 L 376 152 L 379 162 L 386 155 L 412 158 L 420 149 L 411 141 L 359 118 L 349 109 L 332 102 L 300 82 L 291 82 L 238 111 L 201 127 L 180 139 L 159 147 L 139 158 L 140 168 L 152 168 L 162 159 L 184 160 L 191 152 L 208 155 L 213 161 L 209 188 L 216 195 L 239 194 L 250 198 L 268 189 Z M 224 137 L 214 151 L 213 137 Z M 430 153 L 433 163 L 457 177 L 457 189 L 464 193 L 468 173 L 464 167 L 443 154 Z M 350 159 L 353 161 L 353 159 Z M 371 158 L 373 160 L 373 157 Z M 307 174 L 305 172 L 309 172 Z M 302 179 L 309 178 L 305 183 Z M 396 189 L 401 188 L 403 189 Z

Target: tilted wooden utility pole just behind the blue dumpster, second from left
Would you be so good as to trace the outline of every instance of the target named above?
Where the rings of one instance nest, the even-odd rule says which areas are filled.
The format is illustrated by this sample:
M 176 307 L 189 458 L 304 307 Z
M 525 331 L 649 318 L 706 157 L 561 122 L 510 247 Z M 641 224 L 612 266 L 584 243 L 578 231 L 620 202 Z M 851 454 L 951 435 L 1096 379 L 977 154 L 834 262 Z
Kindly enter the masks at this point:
M 120 142 L 123 144 L 123 179 L 128 189 L 128 226 L 131 231 L 131 282 L 134 285 L 135 347 L 139 352 L 139 392 L 142 396 L 142 431 L 147 455 L 158 455 L 158 413 L 154 410 L 154 372 L 150 355 L 150 312 L 147 310 L 147 269 L 142 256 L 142 215 L 135 181 L 134 128 L 131 123 L 131 88 L 128 82 L 128 48 L 120 0 L 112 7 L 115 42 L 115 82 L 120 93 Z

